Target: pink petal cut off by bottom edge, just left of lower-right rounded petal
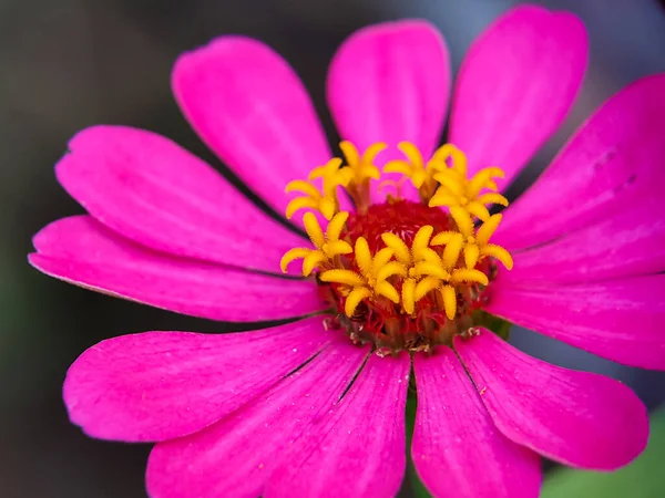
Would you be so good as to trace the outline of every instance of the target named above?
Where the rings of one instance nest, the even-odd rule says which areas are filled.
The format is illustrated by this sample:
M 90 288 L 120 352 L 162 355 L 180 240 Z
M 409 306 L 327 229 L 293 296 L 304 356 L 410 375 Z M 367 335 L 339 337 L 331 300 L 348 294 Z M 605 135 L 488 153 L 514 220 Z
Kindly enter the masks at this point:
M 539 456 L 501 434 L 450 347 L 413 357 L 418 412 L 411 454 L 434 496 L 538 497 Z

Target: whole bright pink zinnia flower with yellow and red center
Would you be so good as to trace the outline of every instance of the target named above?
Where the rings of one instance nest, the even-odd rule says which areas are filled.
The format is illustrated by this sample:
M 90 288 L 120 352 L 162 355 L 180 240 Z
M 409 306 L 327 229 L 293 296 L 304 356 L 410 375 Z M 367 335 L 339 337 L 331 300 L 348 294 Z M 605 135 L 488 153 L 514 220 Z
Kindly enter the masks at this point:
M 462 64 L 451 104 L 449 141 L 466 152 L 469 174 L 495 164 L 504 178 L 483 185 L 504 189 L 567 114 L 586 60 L 584 28 L 569 13 L 520 7 L 488 28 Z M 332 157 L 301 83 L 258 41 L 223 37 L 184 54 L 173 89 L 204 142 L 277 211 L 293 200 L 284 195 L 289 181 Z M 427 177 L 395 149 L 408 141 L 429 158 L 442 129 L 450 70 L 431 25 L 401 21 L 352 34 L 331 63 L 327 90 L 344 139 L 360 151 L 383 142 L 381 164 L 413 169 L 405 173 L 412 184 L 401 184 L 401 212 L 392 200 L 383 204 L 376 181 L 346 178 L 328 188 L 331 177 L 323 176 L 321 199 L 332 204 L 320 211 L 350 212 L 342 235 L 356 247 L 352 253 L 350 242 L 337 252 L 320 249 L 319 259 L 310 259 L 318 284 L 276 274 L 285 252 L 305 239 L 171 141 L 120 126 L 88 128 L 72 139 L 57 175 L 89 215 L 38 234 L 34 267 L 195 317 L 298 319 L 255 332 L 146 332 L 103 341 L 68 373 L 72 422 L 93 437 L 156 443 L 146 478 L 154 497 L 393 496 L 405 473 L 412 359 L 418 413 L 411 455 L 436 496 L 536 496 L 539 455 L 598 470 L 635 458 L 648 423 L 630 388 L 530 357 L 480 326 L 472 310 L 482 304 L 601 356 L 665 369 L 665 74 L 610 98 L 503 211 L 499 228 L 500 218 L 491 218 L 494 242 L 505 253 L 483 249 L 472 225 L 463 234 L 464 209 L 493 222 L 482 203 L 472 208 L 466 194 L 452 200 L 450 193 L 434 194 L 446 179 Z M 453 172 L 446 162 L 439 166 Z M 467 181 L 460 178 L 451 180 L 452 190 Z M 346 197 L 335 197 L 340 186 L 360 200 L 357 214 Z M 453 222 L 447 209 L 417 208 L 419 195 L 439 196 L 451 214 L 457 206 L 462 215 Z M 374 207 L 362 204 L 369 199 Z M 439 214 L 416 221 L 422 209 Z M 317 240 L 317 221 L 307 215 L 303 221 L 300 212 L 296 222 Z M 449 258 L 458 267 L 451 270 L 438 253 L 429 273 L 415 270 L 413 248 L 400 259 L 390 246 L 399 240 L 383 237 L 397 230 L 390 222 L 398 218 L 411 224 L 405 242 L 424 226 L 448 234 L 440 237 L 446 250 L 463 238 L 463 249 Z M 377 226 L 383 234 L 374 240 Z M 358 280 L 365 278 L 359 239 L 374 256 L 385 241 L 387 257 L 396 258 L 388 280 Z M 514 270 L 508 272 L 495 261 L 510 267 L 510 253 Z M 460 270 L 459 280 L 449 270 Z M 432 298 L 418 300 L 413 289 L 426 280 Z M 345 308 L 352 292 L 359 301 Z M 337 319 L 321 318 L 330 309 Z M 426 335 L 426 322 L 442 325 Z

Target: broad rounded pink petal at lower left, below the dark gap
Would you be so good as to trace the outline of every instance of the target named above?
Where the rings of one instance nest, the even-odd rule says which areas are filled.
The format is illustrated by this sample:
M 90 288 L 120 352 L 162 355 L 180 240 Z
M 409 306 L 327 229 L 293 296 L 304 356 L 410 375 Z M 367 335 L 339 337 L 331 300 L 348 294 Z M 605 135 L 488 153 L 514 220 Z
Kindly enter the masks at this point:
M 164 440 L 239 408 L 330 340 L 321 318 L 258 332 L 145 332 L 85 351 L 64 381 L 71 421 L 93 437 Z

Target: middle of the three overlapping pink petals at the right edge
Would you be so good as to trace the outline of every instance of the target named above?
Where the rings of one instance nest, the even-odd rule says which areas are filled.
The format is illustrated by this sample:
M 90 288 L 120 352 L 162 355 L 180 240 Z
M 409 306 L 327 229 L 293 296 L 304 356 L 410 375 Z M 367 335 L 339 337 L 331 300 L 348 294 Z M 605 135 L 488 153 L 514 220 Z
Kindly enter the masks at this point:
M 514 255 L 512 282 L 585 283 L 665 270 L 663 199 Z

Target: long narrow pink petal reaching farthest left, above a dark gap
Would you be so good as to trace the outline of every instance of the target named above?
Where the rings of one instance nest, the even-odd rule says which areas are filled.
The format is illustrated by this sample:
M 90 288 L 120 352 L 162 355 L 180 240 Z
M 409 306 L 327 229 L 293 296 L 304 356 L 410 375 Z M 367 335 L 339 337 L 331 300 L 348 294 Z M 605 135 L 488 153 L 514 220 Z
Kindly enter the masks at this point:
M 222 321 L 301 317 L 326 308 L 309 280 L 291 280 L 151 251 L 88 216 L 34 237 L 30 263 L 51 277 L 156 308 Z

